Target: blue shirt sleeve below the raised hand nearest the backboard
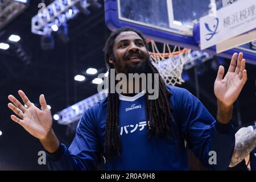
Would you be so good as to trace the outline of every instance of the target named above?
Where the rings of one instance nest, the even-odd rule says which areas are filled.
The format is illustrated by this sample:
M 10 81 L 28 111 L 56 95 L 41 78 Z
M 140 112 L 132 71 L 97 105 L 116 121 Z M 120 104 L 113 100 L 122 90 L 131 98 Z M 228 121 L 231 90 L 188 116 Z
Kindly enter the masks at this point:
M 203 104 L 187 90 L 179 97 L 182 133 L 187 145 L 210 170 L 226 170 L 232 159 L 235 135 L 230 122 L 216 121 Z

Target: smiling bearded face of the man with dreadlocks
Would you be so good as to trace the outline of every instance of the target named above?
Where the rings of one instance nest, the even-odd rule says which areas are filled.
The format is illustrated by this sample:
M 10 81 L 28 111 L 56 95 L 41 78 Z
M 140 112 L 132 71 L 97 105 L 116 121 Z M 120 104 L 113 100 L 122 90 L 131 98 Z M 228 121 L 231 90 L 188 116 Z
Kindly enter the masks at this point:
M 146 45 L 135 32 L 122 32 L 115 38 L 109 62 L 117 73 L 145 73 L 149 63 Z

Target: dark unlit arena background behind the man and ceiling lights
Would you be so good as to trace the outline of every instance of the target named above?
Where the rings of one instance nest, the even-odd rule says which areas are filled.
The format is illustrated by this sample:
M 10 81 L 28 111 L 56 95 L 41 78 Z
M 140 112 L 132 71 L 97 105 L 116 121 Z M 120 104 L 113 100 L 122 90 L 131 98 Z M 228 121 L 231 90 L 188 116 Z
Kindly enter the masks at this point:
M 96 76 L 88 76 L 85 71 L 89 67 L 97 68 L 98 73 L 105 73 L 104 53 L 102 48 L 110 35 L 104 19 L 104 6 L 101 9 L 89 8 L 91 14 L 79 14 L 68 22 L 69 42 L 64 43 L 55 33 L 55 47 L 44 51 L 41 46 L 41 36 L 31 33 L 31 18 L 38 13 L 38 3 L 30 1 L 28 9 L 13 22 L 0 30 L 0 42 L 5 42 L 11 34 L 19 35 L 18 46 L 22 47 L 30 59 L 20 60 L 13 47 L 0 49 L 0 170 L 45 170 L 46 166 L 38 164 L 38 151 L 43 150 L 38 139 L 28 134 L 21 126 L 10 119 L 12 111 L 7 107 L 7 96 L 18 96 L 22 89 L 35 105 L 39 104 L 39 95 L 44 94 L 47 104 L 51 105 L 52 114 L 75 104 L 86 97 L 97 93 L 97 85 L 92 84 Z M 45 1 L 48 5 L 51 1 Z M 225 70 L 228 69 L 228 59 L 214 57 L 197 68 L 189 69 L 187 80 L 181 87 L 196 95 L 195 71 L 200 72 L 199 96 L 201 102 L 213 116 L 216 116 L 216 99 L 213 84 L 217 75 L 213 63 L 222 61 Z M 195 70 L 197 69 L 197 70 Z M 248 80 L 240 97 L 234 104 L 233 123 L 238 129 L 238 120 L 242 126 L 256 121 L 255 117 L 255 65 L 246 64 Z M 77 82 L 73 77 L 77 74 L 86 76 L 85 82 Z M 180 85 L 177 85 L 180 86 Z M 197 93 L 198 95 L 198 93 Z M 67 126 L 53 123 L 53 129 L 61 142 L 69 144 L 74 134 L 67 135 Z M 243 164 L 233 169 L 245 169 Z

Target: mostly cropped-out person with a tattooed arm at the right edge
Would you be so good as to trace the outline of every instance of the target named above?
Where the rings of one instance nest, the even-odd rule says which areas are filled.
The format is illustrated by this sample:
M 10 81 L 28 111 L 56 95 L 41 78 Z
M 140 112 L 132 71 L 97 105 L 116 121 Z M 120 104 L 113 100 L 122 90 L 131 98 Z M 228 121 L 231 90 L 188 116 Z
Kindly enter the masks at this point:
M 242 127 L 236 133 L 236 145 L 229 167 L 245 159 L 247 168 L 256 171 L 256 130 L 255 126 Z

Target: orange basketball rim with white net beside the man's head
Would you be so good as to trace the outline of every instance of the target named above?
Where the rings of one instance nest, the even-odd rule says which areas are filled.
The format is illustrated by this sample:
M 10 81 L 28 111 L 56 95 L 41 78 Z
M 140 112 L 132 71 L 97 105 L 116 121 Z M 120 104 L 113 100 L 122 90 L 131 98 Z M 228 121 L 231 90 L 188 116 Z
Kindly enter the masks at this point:
M 159 52 L 154 40 L 147 40 L 151 44 L 152 50 L 149 51 L 152 64 L 158 69 L 160 76 L 167 85 L 182 84 L 184 82 L 181 77 L 183 65 L 192 59 L 191 49 L 175 46 L 171 51 L 168 44 L 163 44 L 163 51 Z

